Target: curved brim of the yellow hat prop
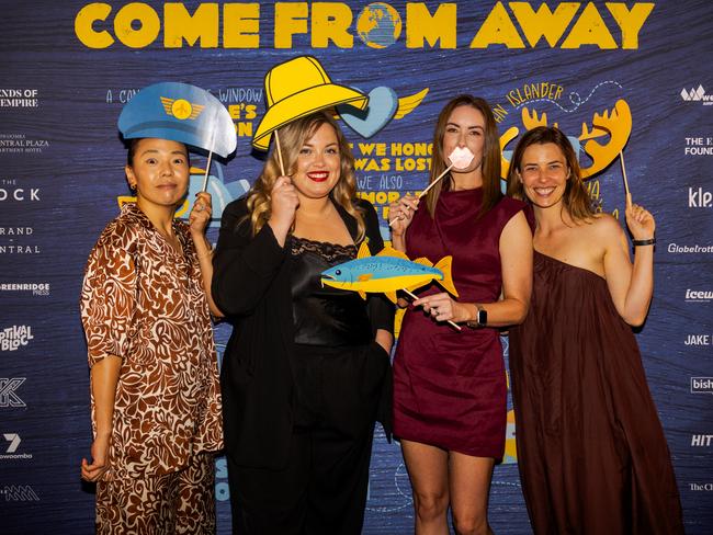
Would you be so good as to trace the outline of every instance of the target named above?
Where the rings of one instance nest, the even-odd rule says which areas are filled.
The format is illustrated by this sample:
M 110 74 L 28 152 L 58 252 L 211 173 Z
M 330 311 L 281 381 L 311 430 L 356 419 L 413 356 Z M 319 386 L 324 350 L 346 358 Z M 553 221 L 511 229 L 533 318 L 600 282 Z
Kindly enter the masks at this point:
M 363 110 L 367 103 L 369 95 L 336 83 L 305 89 L 274 103 L 268 109 L 254 133 L 252 146 L 259 150 L 268 150 L 272 133 L 299 117 L 339 104 L 351 104 Z

